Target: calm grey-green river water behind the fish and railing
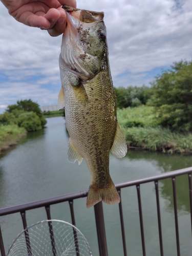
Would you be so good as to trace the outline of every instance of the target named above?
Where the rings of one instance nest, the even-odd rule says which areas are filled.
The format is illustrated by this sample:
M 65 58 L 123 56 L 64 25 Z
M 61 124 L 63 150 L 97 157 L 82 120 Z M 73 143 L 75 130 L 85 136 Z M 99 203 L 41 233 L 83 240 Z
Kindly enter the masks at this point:
M 67 160 L 69 136 L 62 117 L 47 119 L 47 128 L 29 133 L 20 143 L 0 157 L 0 207 L 7 207 L 87 189 L 90 174 L 85 161 L 81 165 Z M 110 156 L 114 183 L 124 182 L 170 170 L 189 167 L 192 156 L 165 155 L 156 152 L 127 152 L 122 159 Z M 187 176 L 176 179 L 179 234 L 182 256 L 192 255 Z M 172 182 L 159 182 L 164 255 L 175 256 L 175 220 Z M 122 189 L 127 255 L 142 255 L 136 187 Z M 158 223 L 154 183 L 141 185 L 141 200 L 147 256 L 159 256 Z M 88 239 L 93 255 L 99 255 L 94 208 L 86 208 L 86 198 L 74 202 L 76 226 Z M 103 204 L 109 256 L 123 255 L 118 205 Z M 52 219 L 71 222 L 69 204 L 51 206 Z M 46 218 L 44 208 L 27 211 L 28 225 Z M 22 231 L 20 214 L 0 218 L 5 249 Z

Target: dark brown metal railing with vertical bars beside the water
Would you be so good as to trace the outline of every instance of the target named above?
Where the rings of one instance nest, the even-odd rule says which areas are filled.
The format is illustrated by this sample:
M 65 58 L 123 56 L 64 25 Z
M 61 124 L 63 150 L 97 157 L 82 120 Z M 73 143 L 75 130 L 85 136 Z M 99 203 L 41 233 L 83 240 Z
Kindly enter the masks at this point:
M 121 196 L 121 189 L 124 187 L 136 186 L 137 188 L 137 197 L 138 197 L 138 210 L 139 210 L 139 219 L 140 219 L 140 230 L 141 230 L 141 243 L 142 243 L 142 253 L 143 256 L 146 256 L 145 251 L 145 238 L 144 238 L 144 228 L 143 228 L 143 215 L 142 215 L 142 204 L 141 204 L 141 194 L 140 194 L 140 185 L 143 183 L 154 182 L 155 183 L 155 191 L 156 191 L 156 203 L 157 203 L 157 217 L 158 217 L 158 229 L 159 229 L 159 246 L 160 246 L 160 255 L 163 256 L 163 242 L 162 242 L 162 229 L 161 229 L 161 213 L 160 213 L 160 203 L 159 203 L 159 188 L 158 188 L 158 181 L 162 179 L 171 178 L 172 179 L 172 186 L 173 186 L 173 198 L 174 198 L 174 214 L 175 214 L 175 230 L 176 230 L 176 243 L 177 243 L 177 256 L 180 256 L 180 242 L 179 242 L 179 227 L 178 227 L 178 214 L 177 214 L 177 195 L 176 195 L 176 177 L 181 175 L 188 175 L 188 188 L 189 188 L 189 200 L 190 200 L 190 219 L 191 219 L 191 232 L 192 232 L 192 184 L 191 184 L 191 173 L 192 167 L 184 168 L 180 170 L 175 170 L 172 172 L 163 173 L 160 175 L 155 175 L 151 177 L 146 177 L 143 179 L 127 181 L 123 183 L 116 184 L 116 188 L 118 190 L 119 195 Z M 20 212 L 24 229 L 27 228 L 27 220 L 26 220 L 26 211 L 45 207 L 47 212 L 48 220 L 51 220 L 51 211 L 50 205 L 58 204 L 62 202 L 69 202 L 70 211 L 71 211 L 71 218 L 72 224 L 75 225 L 75 213 L 73 207 L 73 200 L 87 197 L 88 190 L 79 191 L 77 193 L 71 193 L 63 196 L 58 196 L 46 200 L 41 200 L 37 202 L 11 206 L 7 208 L 0 209 L 0 216 L 5 216 L 9 214 L 14 214 L 15 212 Z M 108 256 L 108 248 L 106 244 L 106 235 L 105 235 L 105 226 L 104 226 L 104 217 L 103 217 L 103 208 L 102 202 L 96 204 L 94 206 L 95 211 L 95 221 L 96 221 L 96 228 L 97 228 L 97 238 L 98 238 L 98 247 L 99 247 L 99 255 L 100 256 Z M 122 244 L 123 244 L 123 252 L 124 256 L 127 256 L 126 251 L 126 240 L 125 240 L 125 229 L 124 229 L 124 222 L 123 222 L 123 207 L 121 202 L 119 203 L 119 215 L 120 215 L 120 222 L 121 222 L 121 233 L 122 233 Z M 51 229 L 50 229 L 51 230 Z M 29 234 L 26 231 L 26 241 L 29 241 Z M 2 256 L 6 256 L 5 249 L 4 249 L 4 242 L 3 236 L 0 226 L 0 249 Z M 31 249 L 29 247 L 28 255 L 31 256 Z M 53 254 L 56 256 L 55 254 Z

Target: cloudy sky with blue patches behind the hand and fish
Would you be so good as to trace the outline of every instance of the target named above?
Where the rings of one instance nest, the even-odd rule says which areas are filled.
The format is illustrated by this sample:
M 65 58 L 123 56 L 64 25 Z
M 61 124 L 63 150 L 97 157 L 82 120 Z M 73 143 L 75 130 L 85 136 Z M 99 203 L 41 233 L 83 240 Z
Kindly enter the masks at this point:
M 192 59 L 191 0 L 76 0 L 103 11 L 115 87 L 150 86 L 173 62 Z M 57 104 L 62 36 L 18 23 L 0 2 L 0 113 L 17 100 Z

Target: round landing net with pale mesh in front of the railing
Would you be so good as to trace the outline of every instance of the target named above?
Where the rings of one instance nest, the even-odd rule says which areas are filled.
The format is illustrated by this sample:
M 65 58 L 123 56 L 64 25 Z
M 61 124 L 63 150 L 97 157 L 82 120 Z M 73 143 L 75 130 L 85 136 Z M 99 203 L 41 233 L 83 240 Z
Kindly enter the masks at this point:
M 18 234 L 7 256 L 92 256 L 90 246 L 72 224 L 45 220 Z

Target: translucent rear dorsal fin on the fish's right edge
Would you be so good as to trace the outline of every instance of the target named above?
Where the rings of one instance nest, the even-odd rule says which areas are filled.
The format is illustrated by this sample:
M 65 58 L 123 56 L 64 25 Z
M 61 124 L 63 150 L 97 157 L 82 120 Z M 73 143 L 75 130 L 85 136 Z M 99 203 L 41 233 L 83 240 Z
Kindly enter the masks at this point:
M 114 156 L 121 158 L 126 155 L 127 144 L 123 132 L 120 129 L 119 124 L 117 123 L 117 129 L 115 133 L 115 138 L 113 145 L 111 147 L 111 152 Z

